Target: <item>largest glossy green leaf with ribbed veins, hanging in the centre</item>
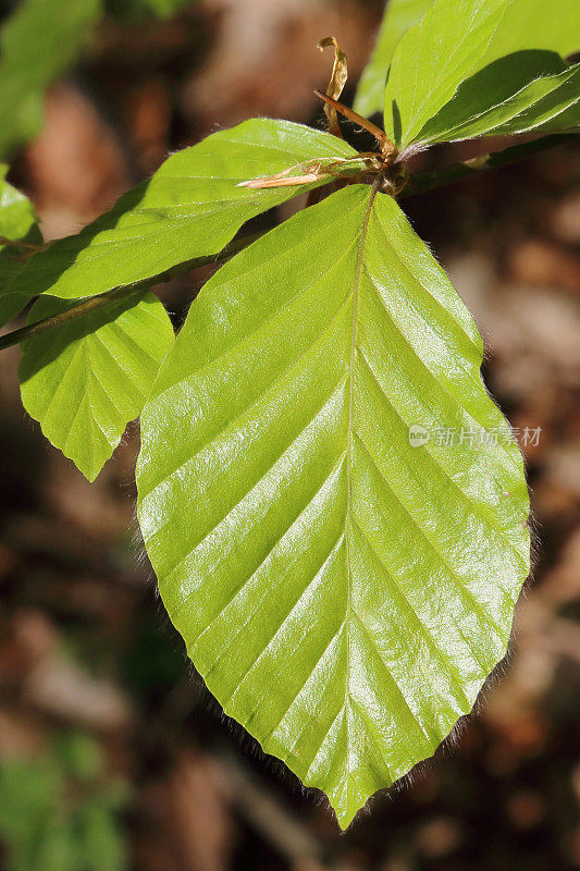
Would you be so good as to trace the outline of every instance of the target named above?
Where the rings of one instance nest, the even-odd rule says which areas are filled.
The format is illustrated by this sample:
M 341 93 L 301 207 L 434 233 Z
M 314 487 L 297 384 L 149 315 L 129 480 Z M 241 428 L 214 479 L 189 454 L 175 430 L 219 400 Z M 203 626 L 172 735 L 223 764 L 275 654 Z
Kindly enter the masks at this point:
M 506 652 L 528 495 L 481 360 L 395 200 L 353 185 L 208 282 L 143 413 L 138 515 L 171 619 L 342 826 Z

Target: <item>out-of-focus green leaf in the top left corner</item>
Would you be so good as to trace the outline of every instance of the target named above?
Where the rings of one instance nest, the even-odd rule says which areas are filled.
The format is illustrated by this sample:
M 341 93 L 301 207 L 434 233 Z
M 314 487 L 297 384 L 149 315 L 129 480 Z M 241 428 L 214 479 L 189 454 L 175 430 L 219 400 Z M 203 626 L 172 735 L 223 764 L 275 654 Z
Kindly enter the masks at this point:
M 76 58 L 100 0 L 25 0 L 0 33 L 0 157 L 42 124 L 46 88 Z

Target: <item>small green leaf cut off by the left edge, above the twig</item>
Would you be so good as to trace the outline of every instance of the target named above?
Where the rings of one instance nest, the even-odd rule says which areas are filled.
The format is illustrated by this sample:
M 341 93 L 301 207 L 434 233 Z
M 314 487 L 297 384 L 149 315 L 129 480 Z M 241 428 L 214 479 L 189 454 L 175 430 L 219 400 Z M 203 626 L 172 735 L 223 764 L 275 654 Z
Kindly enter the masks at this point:
M 30 200 L 5 180 L 8 167 L 0 163 L 0 327 L 8 323 L 28 302 L 27 296 L 5 292 L 5 285 L 22 269 L 17 259 L 24 248 L 2 243 L 2 240 L 38 245 L 42 236 Z

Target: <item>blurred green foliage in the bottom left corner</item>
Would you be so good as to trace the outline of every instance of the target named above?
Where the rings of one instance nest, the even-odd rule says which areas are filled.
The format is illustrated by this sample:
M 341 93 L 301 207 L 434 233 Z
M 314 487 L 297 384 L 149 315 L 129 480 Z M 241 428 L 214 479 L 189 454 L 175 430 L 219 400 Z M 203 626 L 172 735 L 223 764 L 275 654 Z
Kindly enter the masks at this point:
M 7 871 L 124 871 L 119 781 L 103 777 L 100 747 L 70 735 L 34 759 L 0 765 L 0 837 Z

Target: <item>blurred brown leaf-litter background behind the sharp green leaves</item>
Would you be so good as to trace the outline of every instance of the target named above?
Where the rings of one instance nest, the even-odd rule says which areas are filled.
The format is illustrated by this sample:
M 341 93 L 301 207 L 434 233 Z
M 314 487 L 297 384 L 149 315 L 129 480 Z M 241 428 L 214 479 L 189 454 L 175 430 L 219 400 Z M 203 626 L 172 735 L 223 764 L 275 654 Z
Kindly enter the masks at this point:
M 363 0 L 176 5 L 109 0 L 49 89 L 45 126 L 9 175 L 47 238 L 76 232 L 219 127 L 256 114 L 321 125 L 312 88 L 331 57 L 317 41 L 335 35 L 346 50 L 349 102 L 382 14 Z M 440 147 L 419 169 L 489 147 Z M 344 835 L 187 662 L 135 522 L 137 427 L 87 483 L 23 412 L 18 349 L 0 355 L 3 868 L 580 867 L 579 182 L 580 154 L 566 147 L 404 203 L 474 314 L 491 392 L 514 427 L 540 428 L 523 445 L 536 561 L 510 661 L 478 714 Z M 156 289 L 176 322 L 208 274 Z

